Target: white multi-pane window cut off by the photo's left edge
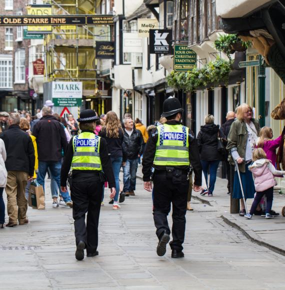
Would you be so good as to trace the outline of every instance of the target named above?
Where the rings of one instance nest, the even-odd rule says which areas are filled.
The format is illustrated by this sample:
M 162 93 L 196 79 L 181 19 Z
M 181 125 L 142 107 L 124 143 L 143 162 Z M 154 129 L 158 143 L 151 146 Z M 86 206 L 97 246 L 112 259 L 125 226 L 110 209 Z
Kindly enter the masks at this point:
M 12 55 L 0 55 L 0 88 L 13 88 Z

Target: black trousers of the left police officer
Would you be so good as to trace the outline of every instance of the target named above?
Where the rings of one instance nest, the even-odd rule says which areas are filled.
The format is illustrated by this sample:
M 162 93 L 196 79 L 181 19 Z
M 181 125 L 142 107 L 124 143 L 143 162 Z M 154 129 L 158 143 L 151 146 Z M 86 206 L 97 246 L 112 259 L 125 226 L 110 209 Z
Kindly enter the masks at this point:
M 103 183 L 96 172 L 78 172 L 72 174 L 71 199 L 74 219 L 75 240 L 85 242 L 89 253 L 98 246 L 98 222 L 101 208 Z M 85 214 L 87 223 L 85 224 Z

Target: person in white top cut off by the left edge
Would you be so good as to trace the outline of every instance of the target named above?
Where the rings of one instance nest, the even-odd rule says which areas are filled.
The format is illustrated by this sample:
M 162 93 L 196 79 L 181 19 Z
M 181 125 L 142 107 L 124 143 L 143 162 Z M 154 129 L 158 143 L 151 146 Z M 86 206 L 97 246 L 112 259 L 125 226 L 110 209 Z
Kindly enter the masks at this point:
M 6 149 L 2 139 L 0 139 L 0 228 L 5 226 L 5 203 L 3 200 L 3 191 L 7 184 L 7 170 L 5 167 Z

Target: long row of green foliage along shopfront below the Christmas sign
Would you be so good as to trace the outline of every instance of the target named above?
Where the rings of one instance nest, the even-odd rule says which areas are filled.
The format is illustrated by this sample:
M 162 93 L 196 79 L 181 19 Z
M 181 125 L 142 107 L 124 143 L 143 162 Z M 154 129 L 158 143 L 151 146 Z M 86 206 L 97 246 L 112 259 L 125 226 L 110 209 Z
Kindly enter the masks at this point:
M 231 61 L 218 57 L 200 69 L 194 67 L 187 72 L 175 72 L 172 70 L 167 76 L 167 84 L 176 90 L 183 89 L 190 92 L 198 88 L 216 86 L 220 82 L 227 83 L 231 63 Z

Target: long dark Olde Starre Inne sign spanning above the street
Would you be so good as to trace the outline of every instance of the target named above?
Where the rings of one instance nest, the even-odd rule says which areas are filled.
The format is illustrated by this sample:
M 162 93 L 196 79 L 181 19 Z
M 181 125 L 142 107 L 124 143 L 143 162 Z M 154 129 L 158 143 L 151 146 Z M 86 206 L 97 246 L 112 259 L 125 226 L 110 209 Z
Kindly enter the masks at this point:
M 112 15 L 0 15 L 0 26 L 112 25 Z

